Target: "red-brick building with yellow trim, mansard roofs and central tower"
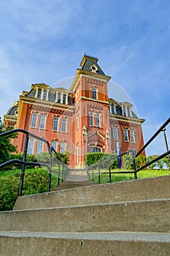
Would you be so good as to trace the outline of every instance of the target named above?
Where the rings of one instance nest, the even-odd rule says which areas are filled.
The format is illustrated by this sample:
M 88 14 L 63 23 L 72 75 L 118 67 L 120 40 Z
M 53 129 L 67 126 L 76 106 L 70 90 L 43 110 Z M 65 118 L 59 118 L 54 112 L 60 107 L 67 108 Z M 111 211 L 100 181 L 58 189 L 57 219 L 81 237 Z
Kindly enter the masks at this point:
M 6 126 L 26 129 L 48 140 L 60 151 L 69 151 L 70 165 L 83 167 L 88 152 L 123 153 L 143 146 L 142 123 L 131 103 L 108 97 L 109 76 L 98 59 L 83 56 L 70 90 L 32 84 L 4 116 Z M 23 135 L 18 135 L 23 151 Z M 28 153 L 47 151 L 40 140 L 29 138 Z

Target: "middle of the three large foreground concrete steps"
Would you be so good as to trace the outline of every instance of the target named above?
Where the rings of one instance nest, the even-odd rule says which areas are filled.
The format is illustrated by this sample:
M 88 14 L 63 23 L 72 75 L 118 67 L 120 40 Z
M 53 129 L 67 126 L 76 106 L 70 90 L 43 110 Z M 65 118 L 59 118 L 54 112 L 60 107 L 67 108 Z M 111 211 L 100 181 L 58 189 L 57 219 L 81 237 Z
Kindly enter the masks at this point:
M 170 233 L 170 199 L 0 212 L 1 231 Z

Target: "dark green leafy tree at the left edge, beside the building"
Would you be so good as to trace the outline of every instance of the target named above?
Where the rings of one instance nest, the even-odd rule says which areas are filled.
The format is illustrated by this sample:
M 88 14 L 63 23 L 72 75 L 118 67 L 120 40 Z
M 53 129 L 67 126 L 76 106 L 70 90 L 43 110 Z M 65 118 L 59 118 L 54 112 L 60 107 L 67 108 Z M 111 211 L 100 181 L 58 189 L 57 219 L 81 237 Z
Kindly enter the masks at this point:
M 0 133 L 11 130 L 11 127 L 4 128 L 4 123 L 0 117 Z M 0 138 L 0 165 L 10 159 L 10 154 L 16 152 L 16 146 L 12 144 L 12 138 L 16 138 L 16 134 L 7 135 Z

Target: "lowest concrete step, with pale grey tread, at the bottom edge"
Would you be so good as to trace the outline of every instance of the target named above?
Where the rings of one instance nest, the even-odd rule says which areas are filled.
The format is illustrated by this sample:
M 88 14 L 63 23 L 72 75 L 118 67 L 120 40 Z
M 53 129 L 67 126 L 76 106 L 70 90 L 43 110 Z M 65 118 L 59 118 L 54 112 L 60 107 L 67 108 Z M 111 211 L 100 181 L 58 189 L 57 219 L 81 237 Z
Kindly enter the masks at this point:
M 146 256 L 169 255 L 166 233 L 0 232 L 0 256 Z

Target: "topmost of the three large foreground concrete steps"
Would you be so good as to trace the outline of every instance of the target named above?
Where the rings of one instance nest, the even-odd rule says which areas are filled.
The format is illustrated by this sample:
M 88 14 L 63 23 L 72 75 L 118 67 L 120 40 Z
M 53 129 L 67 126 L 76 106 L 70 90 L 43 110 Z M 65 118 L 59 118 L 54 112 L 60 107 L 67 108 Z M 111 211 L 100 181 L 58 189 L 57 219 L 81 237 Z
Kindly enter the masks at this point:
M 90 187 L 77 186 L 75 189 L 18 197 L 15 210 L 170 198 L 169 184 L 170 176 L 159 176 Z

